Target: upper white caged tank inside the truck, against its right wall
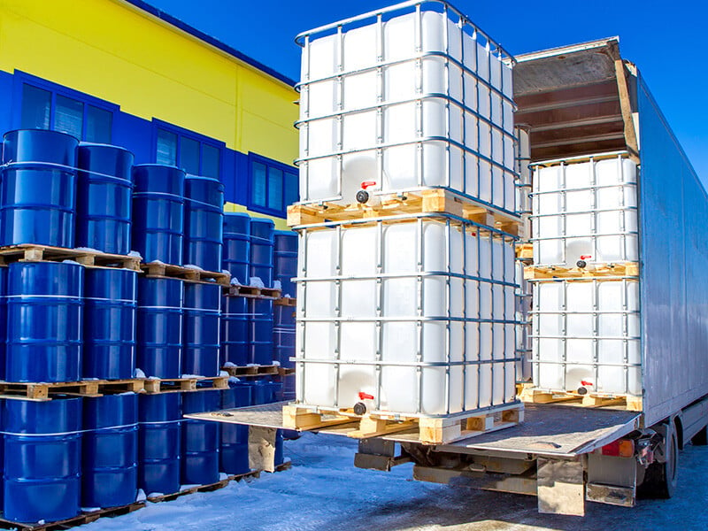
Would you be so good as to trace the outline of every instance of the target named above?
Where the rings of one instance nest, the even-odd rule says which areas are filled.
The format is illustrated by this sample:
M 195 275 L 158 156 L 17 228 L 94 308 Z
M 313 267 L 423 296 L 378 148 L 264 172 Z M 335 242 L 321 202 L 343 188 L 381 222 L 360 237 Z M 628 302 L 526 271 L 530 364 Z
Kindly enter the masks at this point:
M 536 265 L 639 259 L 637 166 L 627 154 L 539 163 L 533 181 Z

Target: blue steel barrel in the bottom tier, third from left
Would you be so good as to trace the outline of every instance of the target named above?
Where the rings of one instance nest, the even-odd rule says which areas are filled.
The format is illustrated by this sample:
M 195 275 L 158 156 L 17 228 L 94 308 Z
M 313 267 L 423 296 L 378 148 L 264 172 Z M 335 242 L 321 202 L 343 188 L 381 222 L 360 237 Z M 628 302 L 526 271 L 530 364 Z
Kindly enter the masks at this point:
M 141 395 L 138 410 L 138 488 L 145 494 L 180 490 L 181 393 Z

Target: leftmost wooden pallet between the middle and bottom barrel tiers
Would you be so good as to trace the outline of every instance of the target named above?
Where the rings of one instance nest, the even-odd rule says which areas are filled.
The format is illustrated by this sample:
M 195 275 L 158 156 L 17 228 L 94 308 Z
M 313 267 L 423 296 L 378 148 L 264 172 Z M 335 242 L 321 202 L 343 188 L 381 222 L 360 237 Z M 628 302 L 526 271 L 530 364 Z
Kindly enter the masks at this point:
M 54 395 L 104 396 L 115 393 L 139 393 L 142 378 L 130 380 L 83 380 L 56 383 L 0 381 L 0 398 L 45 401 Z

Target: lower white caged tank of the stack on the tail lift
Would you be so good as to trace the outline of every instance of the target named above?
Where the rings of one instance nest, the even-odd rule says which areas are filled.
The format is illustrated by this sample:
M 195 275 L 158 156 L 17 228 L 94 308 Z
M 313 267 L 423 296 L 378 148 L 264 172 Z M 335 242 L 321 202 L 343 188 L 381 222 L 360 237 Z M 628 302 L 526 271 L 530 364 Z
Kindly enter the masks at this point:
M 303 230 L 296 397 L 447 414 L 514 400 L 512 238 L 444 217 Z

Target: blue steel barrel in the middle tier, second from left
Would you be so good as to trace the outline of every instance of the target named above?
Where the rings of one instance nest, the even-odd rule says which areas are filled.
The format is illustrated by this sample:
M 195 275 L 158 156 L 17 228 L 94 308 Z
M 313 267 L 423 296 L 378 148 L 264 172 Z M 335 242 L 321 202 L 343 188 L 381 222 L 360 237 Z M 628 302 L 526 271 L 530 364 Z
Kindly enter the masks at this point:
M 88 267 L 85 277 L 83 377 L 133 378 L 138 275 L 128 269 Z

